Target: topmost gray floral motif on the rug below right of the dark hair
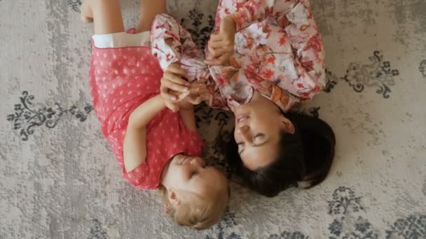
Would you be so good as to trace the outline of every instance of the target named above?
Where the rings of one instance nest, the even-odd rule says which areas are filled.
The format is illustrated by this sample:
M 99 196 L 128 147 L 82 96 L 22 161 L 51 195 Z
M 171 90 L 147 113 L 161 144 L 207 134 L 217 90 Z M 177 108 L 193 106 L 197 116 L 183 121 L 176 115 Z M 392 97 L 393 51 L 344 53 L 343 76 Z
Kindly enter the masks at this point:
M 355 196 L 355 191 L 348 187 L 339 187 L 334 190 L 333 200 L 328 203 L 330 215 L 345 215 L 350 208 L 354 212 L 364 210 L 361 205 L 361 197 Z

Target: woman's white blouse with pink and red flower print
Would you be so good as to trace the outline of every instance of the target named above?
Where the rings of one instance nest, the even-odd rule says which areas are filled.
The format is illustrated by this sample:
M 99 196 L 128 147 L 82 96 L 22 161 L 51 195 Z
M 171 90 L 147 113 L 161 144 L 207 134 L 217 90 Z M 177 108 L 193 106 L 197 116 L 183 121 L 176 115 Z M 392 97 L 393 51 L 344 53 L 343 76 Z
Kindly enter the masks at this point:
M 209 68 L 210 106 L 232 110 L 257 90 L 287 111 L 324 89 L 324 48 L 308 0 L 221 0 L 214 31 L 226 15 L 238 29 L 235 55 L 231 66 Z

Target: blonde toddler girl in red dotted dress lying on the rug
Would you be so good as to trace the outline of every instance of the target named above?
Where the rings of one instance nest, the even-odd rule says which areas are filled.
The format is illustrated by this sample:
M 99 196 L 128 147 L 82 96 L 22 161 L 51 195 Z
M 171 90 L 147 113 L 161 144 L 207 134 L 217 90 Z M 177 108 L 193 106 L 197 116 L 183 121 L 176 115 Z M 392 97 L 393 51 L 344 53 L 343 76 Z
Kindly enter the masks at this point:
M 118 0 L 86 0 L 81 6 L 83 21 L 95 25 L 89 73 L 95 112 L 124 178 L 138 189 L 160 189 L 167 214 L 178 224 L 206 229 L 224 213 L 228 182 L 200 158 L 192 103 L 205 90 L 186 82 L 184 77 L 198 75 L 178 64 L 195 57 L 195 45 L 172 17 L 161 14 L 165 1 L 141 0 L 140 9 L 138 29 L 126 33 Z

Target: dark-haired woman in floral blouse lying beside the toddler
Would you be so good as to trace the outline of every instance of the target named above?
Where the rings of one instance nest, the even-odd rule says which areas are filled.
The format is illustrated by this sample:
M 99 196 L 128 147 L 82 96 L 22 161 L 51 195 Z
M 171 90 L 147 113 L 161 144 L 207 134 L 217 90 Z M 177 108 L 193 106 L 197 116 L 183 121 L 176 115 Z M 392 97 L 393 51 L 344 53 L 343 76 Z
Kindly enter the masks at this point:
M 284 114 L 325 86 L 309 1 L 219 1 L 206 55 L 208 104 L 235 114 L 229 161 L 245 184 L 275 196 L 298 181 L 322 182 L 334 157 L 333 131 L 320 119 Z

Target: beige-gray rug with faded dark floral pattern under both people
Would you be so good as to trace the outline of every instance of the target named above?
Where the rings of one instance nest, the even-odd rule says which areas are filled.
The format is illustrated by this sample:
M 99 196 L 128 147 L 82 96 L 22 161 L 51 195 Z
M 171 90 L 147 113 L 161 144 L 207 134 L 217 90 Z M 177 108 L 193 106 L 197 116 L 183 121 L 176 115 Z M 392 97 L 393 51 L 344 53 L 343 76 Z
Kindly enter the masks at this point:
M 122 2 L 126 27 L 137 1 Z M 78 0 L 0 0 L 0 238 L 426 238 L 426 1 L 311 0 L 327 92 L 297 110 L 336 132 L 335 163 L 310 190 L 264 198 L 233 183 L 226 217 L 175 226 L 137 191 L 90 105 L 92 26 Z M 205 44 L 217 1 L 169 1 Z M 232 118 L 197 109 L 212 164 Z M 223 139 L 223 140 L 222 140 Z

